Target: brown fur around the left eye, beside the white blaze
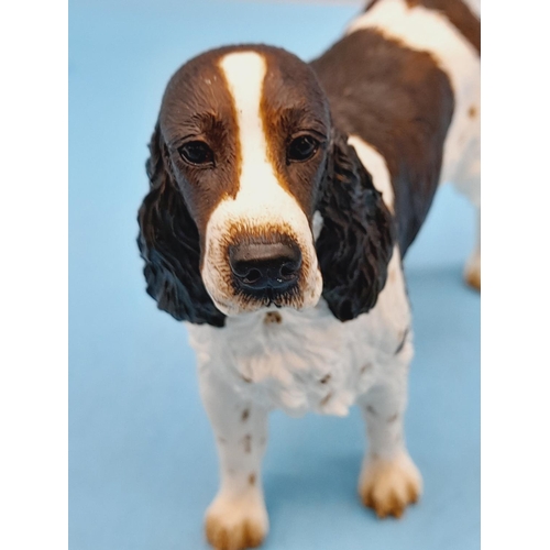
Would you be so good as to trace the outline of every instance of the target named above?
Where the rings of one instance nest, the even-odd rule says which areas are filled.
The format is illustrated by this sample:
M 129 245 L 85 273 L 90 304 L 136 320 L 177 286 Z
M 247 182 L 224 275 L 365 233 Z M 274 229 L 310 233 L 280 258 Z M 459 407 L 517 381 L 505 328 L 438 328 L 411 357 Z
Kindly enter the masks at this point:
M 211 212 L 224 197 L 235 197 L 241 173 L 237 111 L 220 59 L 235 48 L 201 54 L 170 78 L 161 106 L 160 127 L 166 144 L 166 165 L 184 196 L 204 245 Z M 202 141 L 213 152 L 213 167 L 186 163 L 178 150 Z M 202 246 L 204 250 L 204 246 Z

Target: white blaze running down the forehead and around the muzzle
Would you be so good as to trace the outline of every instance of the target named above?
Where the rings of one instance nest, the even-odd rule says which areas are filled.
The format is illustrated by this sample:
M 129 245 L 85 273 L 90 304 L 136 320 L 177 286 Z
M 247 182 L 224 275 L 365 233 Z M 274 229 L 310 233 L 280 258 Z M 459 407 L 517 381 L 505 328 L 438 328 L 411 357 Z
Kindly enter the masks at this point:
M 208 221 L 202 280 L 224 314 L 257 309 L 257 304 L 249 304 L 234 294 L 227 254 L 231 231 L 238 229 L 251 238 L 270 231 L 290 232 L 300 248 L 304 270 L 300 296 L 292 305 L 297 309 L 312 307 L 319 300 L 322 279 L 309 223 L 297 200 L 279 185 L 267 154 L 261 114 L 265 59 L 255 52 L 239 52 L 222 57 L 219 66 L 237 113 L 238 135 L 230 139 L 239 140 L 241 172 L 235 198 L 223 198 Z

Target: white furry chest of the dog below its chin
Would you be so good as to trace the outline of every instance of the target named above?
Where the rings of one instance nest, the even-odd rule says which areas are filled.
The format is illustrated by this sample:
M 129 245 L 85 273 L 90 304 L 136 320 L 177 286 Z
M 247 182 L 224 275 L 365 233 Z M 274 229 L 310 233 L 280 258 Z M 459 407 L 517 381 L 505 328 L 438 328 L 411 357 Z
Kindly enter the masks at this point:
M 229 317 L 188 326 L 201 385 L 229 385 L 244 399 L 293 416 L 343 416 L 359 395 L 411 358 L 410 314 L 397 250 L 374 309 L 341 322 L 324 300 L 305 311 Z M 396 353 L 397 352 L 397 353 Z

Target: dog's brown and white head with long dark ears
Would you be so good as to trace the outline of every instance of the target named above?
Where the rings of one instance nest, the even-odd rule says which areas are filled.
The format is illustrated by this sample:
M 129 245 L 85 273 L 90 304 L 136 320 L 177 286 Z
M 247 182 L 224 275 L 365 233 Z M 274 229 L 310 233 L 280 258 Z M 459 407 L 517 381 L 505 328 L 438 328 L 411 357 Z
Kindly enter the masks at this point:
M 222 326 L 321 293 L 341 320 L 374 305 L 389 212 L 307 64 L 267 46 L 191 59 L 168 82 L 150 150 L 139 245 L 147 292 L 176 319 Z

